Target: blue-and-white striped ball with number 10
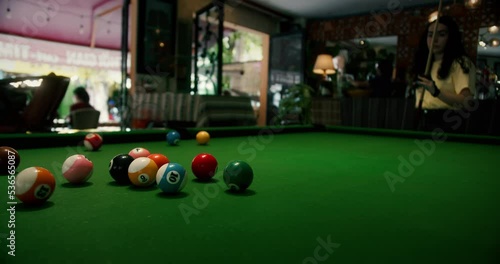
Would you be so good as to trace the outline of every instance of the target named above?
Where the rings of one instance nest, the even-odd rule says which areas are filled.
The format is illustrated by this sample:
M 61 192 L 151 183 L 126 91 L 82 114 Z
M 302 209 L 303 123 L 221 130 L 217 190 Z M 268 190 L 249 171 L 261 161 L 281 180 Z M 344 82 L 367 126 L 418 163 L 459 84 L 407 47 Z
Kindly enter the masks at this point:
M 186 169 L 178 163 L 167 163 L 156 173 L 156 183 L 164 193 L 178 193 L 184 188 L 186 182 Z

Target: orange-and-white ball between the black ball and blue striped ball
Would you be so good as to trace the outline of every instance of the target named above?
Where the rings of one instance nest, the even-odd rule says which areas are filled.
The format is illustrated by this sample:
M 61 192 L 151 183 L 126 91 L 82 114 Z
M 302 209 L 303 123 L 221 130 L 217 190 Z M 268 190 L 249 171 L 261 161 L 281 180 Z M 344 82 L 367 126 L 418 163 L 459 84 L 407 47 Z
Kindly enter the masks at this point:
M 128 167 L 128 177 L 133 185 L 138 187 L 148 187 L 155 182 L 158 172 L 156 163 L 147 157 L 134 159 Z

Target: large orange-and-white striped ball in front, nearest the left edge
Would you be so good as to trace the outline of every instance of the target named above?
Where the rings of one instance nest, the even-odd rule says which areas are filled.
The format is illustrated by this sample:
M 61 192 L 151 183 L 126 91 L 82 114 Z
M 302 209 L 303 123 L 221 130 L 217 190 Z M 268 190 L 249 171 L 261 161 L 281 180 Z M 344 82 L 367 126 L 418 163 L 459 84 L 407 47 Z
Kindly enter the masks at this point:
M 25 204 L 39 205 L 54 193 L 56 179 L 47 169 L 29 167 L 16 176 L 16 197 Z

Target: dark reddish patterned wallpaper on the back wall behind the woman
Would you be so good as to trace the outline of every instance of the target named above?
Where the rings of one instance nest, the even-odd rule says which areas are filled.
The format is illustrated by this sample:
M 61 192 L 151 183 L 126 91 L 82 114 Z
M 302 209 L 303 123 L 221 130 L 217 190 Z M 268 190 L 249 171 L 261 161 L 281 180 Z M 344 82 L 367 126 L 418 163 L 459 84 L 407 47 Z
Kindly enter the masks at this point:
M 392 1 L 397 3 L 398 1 Z M 477 38 L 480 27 L 500 26 L 500 1 L 483 0 L 477 9 L 467 9 L 462 1 L 443 4 L 443 15 L 453 16 L 463 31 L 464 44 L 468 54 L 475 60 Z M 459 3 L 460 2 L 460 3 Z M 391 1 L 389 1 L 391 3 Z M 326 41 L 349 40 L 362 37 L 398 36 L 396 68 L 398 76 L 404 78 L 412 64 L 421 33 L 425 30 L 428 16 L 438 9 L 435 6 L 404 9 L 389 6 L 373 14 L 332 20 L 310 21 L 307 25 L 309 52 L 308 63 L 314 64 L 316 55 L 322 52 Z M 377 14 L 380 14 L 377 16 Z M 403 75 L 401 75 L 403 74 Z

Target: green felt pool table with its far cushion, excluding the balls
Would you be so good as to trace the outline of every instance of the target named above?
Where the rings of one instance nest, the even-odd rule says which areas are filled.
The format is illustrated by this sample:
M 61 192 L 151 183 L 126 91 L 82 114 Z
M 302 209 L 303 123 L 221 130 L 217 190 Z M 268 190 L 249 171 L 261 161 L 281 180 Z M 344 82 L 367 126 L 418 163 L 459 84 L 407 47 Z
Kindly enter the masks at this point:
M 179 146 L 167 144 L 165 130 L 103 133 L 96 152 L 79 146 L 84 133 L 2 135 L 18 148 L 18 172 L 45 167 L 57 186 L 43 206 L 18 203 L 11 216 L 0 176 L 0 263 L 500 263 L 497 138 L 317 126 L 207 131 L 206 146 L 196 129 L 181 131 Z M 115 184 L 109 161 L 139 146 L 184 165 L 180 194 Z M 190 168 L 203 152 L 219 162 L 208 183 Z M 61 176 L 76 153 L 94 163 L 80 186 Z M 253 168 L 246 192 L 224 184 L 232 160 Z

